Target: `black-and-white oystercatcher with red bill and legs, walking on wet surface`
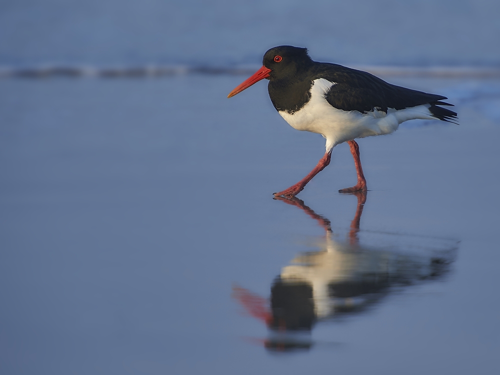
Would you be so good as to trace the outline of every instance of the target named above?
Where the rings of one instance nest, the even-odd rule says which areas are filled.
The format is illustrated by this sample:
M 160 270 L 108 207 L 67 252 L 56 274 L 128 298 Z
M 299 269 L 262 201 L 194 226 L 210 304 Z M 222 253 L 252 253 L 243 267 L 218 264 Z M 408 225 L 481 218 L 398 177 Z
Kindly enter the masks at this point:
M 265 52 L 262 67 L 227 97 L 266 78 L 269 97 L 278 113 L 297 130 L 312 131 L 326 139 L 326 152 L 309 174 L 274 195 L 298 194 L 330 162 L 331 150 L 347 142 L 357 172 L 357 183 L 338 190 L 366 191 L 366 179 L 355 138 L 390 134 L 403 121 L 440 119 L 455 122 L 456 112 L 440 105 L 442 95 L 396 86 L 361 70 L 313 61 L 307 48 L 281 45 Z

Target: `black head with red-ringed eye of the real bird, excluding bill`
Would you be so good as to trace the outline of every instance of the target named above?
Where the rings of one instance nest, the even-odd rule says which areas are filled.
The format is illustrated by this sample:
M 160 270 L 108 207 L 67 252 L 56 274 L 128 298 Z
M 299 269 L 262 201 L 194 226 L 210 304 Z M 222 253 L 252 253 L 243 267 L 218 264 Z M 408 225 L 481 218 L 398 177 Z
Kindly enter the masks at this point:
M 312 64 L 307 48 L 280 45 L 265 52 L 262 65 L 271 69 L 269 80 L 291 78 L 297 72 L 305 72 Z

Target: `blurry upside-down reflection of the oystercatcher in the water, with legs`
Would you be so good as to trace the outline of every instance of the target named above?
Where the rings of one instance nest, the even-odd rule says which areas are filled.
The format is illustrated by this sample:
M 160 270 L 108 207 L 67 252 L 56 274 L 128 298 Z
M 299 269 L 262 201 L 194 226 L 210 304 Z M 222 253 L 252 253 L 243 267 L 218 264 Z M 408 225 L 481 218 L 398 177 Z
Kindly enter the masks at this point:
M 345 240 L 339 240 L 330 221 L 302 200 L 274 198 L 300 208 L 324 228 L 325 235 L 316 244 L 318 251 L 301 253 L 281 269 L 269 299 L 233 287 L 233 296 L 245 310 L 269 328 L 269 336 L 259 340 L 266 348 L 309 349 L 313 344 L 310 331 L 316 322 L 360 313 L 398 286 L 439 279 L 448 272 L 456 241 L 368 232 L 367 244 L 360 242 L 366 192 L 353 195 L 357 206 Z

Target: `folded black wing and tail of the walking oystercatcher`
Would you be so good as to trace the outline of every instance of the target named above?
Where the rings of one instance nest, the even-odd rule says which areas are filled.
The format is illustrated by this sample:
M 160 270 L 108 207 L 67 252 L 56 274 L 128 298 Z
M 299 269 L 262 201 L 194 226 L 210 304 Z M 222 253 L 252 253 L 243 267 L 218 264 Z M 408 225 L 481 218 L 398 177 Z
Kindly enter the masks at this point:
M 318 63 L 315 76 L 335 82 L 325 94 L 332 106 L 361 113 L 373 108 L 387 112 L 387 108 L 404 109 L 421 104 L 431 104 L 429 110 L 441 120 L 456 118 L 456 112 L 436 105 L 453 105 L 440 101 L 445 96 L 412 90 L 385 82 L 373 74 L 345 66 Z

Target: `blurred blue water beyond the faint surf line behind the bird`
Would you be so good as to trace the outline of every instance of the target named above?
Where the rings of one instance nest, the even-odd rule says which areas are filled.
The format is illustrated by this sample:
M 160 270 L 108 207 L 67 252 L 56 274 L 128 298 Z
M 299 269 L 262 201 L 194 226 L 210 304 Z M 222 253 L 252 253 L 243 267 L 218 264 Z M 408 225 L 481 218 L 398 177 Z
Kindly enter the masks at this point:
M 343 64 L 498 66 L 498 3 L 477 1 L 8 1 L 0 62 L 258 63 L 281 44 Z

